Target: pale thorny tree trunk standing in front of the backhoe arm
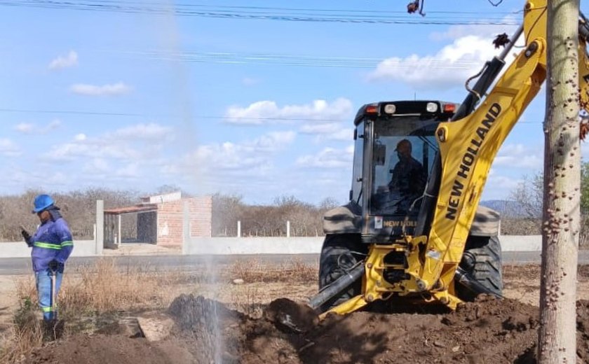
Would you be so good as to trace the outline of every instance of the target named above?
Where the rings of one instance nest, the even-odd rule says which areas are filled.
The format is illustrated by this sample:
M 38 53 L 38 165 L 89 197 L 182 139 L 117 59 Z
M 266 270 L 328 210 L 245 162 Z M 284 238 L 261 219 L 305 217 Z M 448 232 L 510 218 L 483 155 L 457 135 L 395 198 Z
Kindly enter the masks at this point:
M 539 363 L 576 363 L 578 0 L 548 1 Z

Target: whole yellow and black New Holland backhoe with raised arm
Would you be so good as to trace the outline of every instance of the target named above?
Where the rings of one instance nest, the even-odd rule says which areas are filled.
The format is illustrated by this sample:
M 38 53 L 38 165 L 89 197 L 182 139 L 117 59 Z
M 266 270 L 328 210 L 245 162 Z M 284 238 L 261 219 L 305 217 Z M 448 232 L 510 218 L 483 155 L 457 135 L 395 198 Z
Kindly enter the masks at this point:
M 581 104 L 588 104 L 588 27 L 579 20 Z M 524 48 L 501 74 L 524 34 Z M 489 46 L 492 46 L 489 44 Z M 501 75 L 501 76 L 500 76 Z M 377 102 L 354 120 L 350 202 L 324 216 L 321 316 L 371 302 L 450 309 L 501 296 L 499 214 L 479 206 L 497 151 L 546 78 L 546 0 L 528 1 L 523 25 L 487 62 L 461 104 Z

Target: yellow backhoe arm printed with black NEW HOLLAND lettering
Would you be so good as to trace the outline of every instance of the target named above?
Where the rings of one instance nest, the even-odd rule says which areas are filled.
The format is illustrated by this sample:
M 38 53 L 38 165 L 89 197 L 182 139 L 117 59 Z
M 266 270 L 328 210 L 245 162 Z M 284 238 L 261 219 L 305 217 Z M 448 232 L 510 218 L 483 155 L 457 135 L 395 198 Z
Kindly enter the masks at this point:
M 414 238 L 414 246 L 421 244 L 421 249 L 410 253 L 409 269 L 414 269 L 419 288 L 434 291 L 442 302 L 452 298 L 447 290 L 496 153 L 546 80 L 546 1 L 527 3 L 524 34 L 526 48 L 478 108 L 460 120 L 440 123 L 436 131 L 442 163 L 438 200 L 428 235 Z M 583 37 L 578 57 L 580 101 L 589 111 L 589 61 Z

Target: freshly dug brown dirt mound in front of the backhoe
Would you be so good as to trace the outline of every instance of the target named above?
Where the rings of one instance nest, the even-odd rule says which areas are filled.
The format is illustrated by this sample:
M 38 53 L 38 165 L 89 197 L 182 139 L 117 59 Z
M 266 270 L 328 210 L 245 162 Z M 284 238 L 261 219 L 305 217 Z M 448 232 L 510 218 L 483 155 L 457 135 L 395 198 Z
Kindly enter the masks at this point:
M 276 325 L 287 311 L 305 330 Z M 259 319 L 203 297 L 181 295 L 168 314 L 172 337 L 77 336 L 36 351 L 27 363 L 536 363 L 538 309 L 480 297 L 449 314 L 330 314 L 324 321 L 290 300 Z M 279 321 L 280 321 L 279 320 Z M 578 356 L 589 359 L 589 302 L 578 302 Z

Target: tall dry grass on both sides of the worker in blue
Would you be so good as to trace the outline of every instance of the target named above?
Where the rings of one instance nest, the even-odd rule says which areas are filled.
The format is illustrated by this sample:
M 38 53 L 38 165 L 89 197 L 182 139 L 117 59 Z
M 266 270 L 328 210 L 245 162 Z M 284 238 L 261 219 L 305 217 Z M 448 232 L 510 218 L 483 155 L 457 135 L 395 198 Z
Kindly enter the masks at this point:
M 102 258 L 94 265 L 65 273 L 57 300 L 60 318 L 75 321 L 104 312 L 161 309 L 173 299 L 166 287 L 183 279 L 181 272 L 157 272 L 150 267 L 121 269 L 114 260 Z M 43 344 L 41 313 L 32 275 L 16 282 L 16 294 L 20 308 L 5 349 L 0 350 L 1 363 L 15 363 Z M 69 335 L 67 326 L 64 335 Z

